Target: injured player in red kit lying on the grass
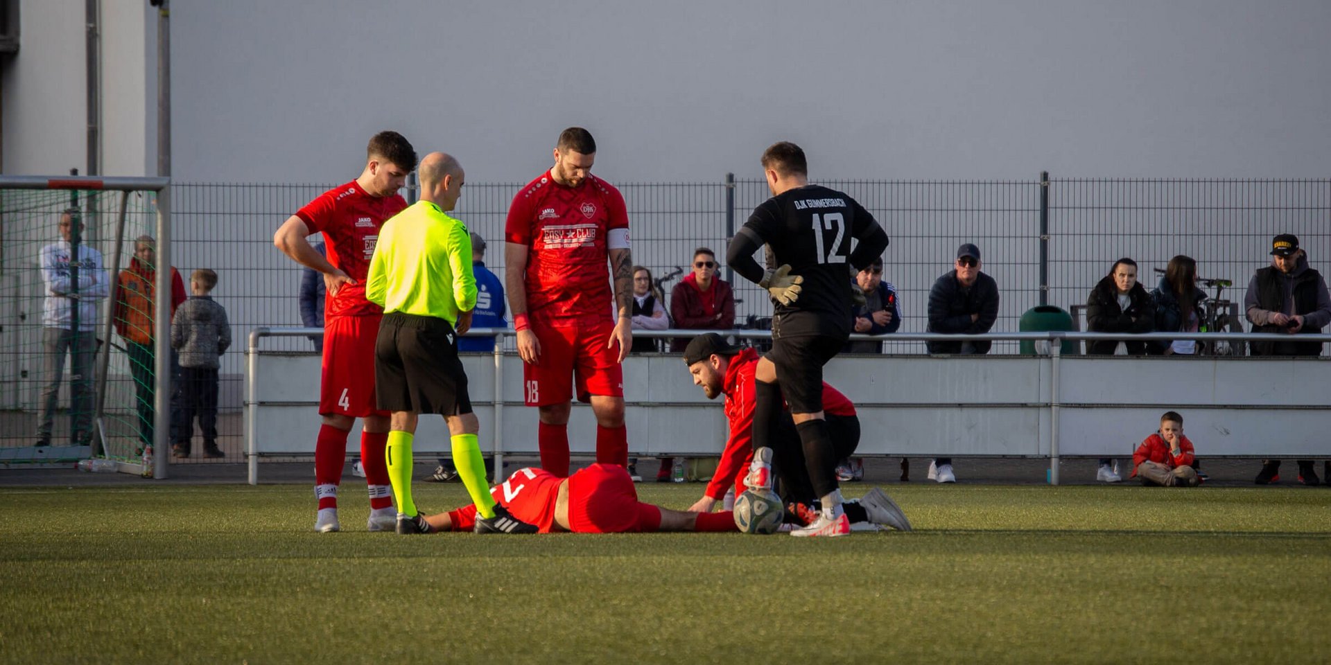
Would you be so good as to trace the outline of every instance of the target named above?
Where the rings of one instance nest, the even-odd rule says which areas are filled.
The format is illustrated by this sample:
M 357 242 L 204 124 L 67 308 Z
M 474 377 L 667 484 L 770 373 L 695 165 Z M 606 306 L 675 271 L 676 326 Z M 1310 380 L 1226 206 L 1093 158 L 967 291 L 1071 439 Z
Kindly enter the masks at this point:
M 514 517 L 535 524 L 542 533 L 739 531 L 731 512 L 680 512 L 639 501 L 634 480 L 618 464 L 592 464 L 570 477 L 539 468 L 519 468 L 490 493 Z M 427 515 L 425 520 L 438 532 L 471 531 L 476 507 Z

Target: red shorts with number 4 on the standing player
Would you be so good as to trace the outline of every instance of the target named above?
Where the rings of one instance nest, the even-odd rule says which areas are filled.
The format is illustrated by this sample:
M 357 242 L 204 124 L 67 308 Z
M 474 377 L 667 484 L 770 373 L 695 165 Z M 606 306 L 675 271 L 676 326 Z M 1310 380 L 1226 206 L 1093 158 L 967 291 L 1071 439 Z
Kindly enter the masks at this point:
M 387 416 L 374 400 L 374 342 L 382 317 L 329 317 L 323 323 L 319 415 Z

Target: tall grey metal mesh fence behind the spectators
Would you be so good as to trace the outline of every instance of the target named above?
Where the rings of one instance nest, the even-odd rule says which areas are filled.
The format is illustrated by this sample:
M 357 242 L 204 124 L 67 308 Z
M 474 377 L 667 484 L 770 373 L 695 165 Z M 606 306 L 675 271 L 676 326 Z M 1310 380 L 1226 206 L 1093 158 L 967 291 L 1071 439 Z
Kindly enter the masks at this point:
M 962 242 L 977 243 L 982 270 L 1002 294 L 994 331 L 1017 330 L 1028 309 L 1086 302 L 1095 282 L 1119 257 L 1139 263 L 1154 286 L 1153 267 L 1175 254 L 1198 261 L 1202 277 L 1231 279 L 1242 299 L 1252 271 L 1268 263 L 1270 239 L 1295 233 L 1312 266 L 1331 269 L 1331 180 L 1078 180 L 1046 174 L 1014 181 L 823 181 L 864 205 L 892 239 L 884 279 L 900 294 L 902 332 L 922 332 L 933 282 L 952 269 Z M 188 275 L 218 273 L 216 299 L 230 317 L 234 339 L 260 326 L 298 326 L 301 267 L 272 245 L 273 231 L 307 201 L 335 184 L 177 184 L 172 188 L 172 263 Z M 658 277 L 687 270 L 695 247 L 725 258 L 725 246 L 753 207 L 769 197 L 761 180 L 618 184 L 628 206 L 634 261 Z M 455 215 L 490 242 L 487 266 L 503 275 L 503 226 L 520 184 L 469 184 Z M 407 198 L 414 198 L 406 193 Z M 15 230 L 7 225 L 0 242 Z M 23 269 L 5 261 L 5 271 Z M 729 277 L 721 266 L 721 277 Z M 680 275 L 683 277 L 683 275 Z M 737 323 L 771 315 L 756 286 L 731 277 Z M 679 278 L 664 285 L 667 297 Z M 668 309 L 668 306 L 667 306 Z M 0 338 L 0 344 L 7 344 Z M 512 344 L 511 340 L 507 344 Z M 237 344 L 238 346 L 238 344 Z M 885 351 L 918 354 L 918 343 L 885 343 Z M 311 351 L 301 338 L 276 350 Z M 1013 342 L 994 352 L 1016 352 Z M 222 427 L 228 458 L 240 451 L 244 354 L 222 360 Z M 8 438 L 11 432 L 0 432 Z M 224 438 L 226 438 L 224 436 Z M 27 432 L 20 438 L 27 439 Z

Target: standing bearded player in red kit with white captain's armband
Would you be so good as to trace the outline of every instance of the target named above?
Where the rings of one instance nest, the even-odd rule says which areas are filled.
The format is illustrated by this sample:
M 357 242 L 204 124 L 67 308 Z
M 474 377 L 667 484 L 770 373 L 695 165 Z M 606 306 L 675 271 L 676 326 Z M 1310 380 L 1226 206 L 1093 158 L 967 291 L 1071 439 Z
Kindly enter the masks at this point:
M 596 462 L 628 464 L 620 367 L 632 343 L 628 213 L 619 190 L 591 174 L 595 156 L 591 133 L 566 129 L 555 165 L 518 192 L 504 227 L 523 395 L 540 410 L 540 466 L 558 476 L 568 475 L 574 396 L 596 415 Z

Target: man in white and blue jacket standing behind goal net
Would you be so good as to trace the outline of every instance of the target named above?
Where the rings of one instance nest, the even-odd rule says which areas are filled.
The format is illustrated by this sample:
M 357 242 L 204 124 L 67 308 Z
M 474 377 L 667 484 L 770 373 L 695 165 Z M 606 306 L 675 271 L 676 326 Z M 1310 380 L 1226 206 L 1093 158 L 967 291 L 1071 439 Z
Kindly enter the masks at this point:
M 92 435 L 92 378 L 97 355 L 97 301 L 110 294 L 101 253 L 81 242 L 77 207 L 60 214 L 61 241 L 41 247 L 39 266 L 45 285 L 41 309 L 41 350 L 45 384 L 37 411 L 37 446 L 51 446 L 60 398 L 60 380 L 69 354 L 71 439 L 87 443 Z M 75 254 L 77 247 L 77 254 Z

